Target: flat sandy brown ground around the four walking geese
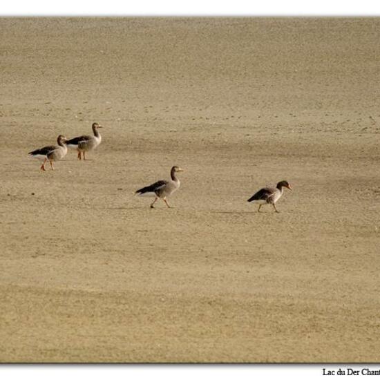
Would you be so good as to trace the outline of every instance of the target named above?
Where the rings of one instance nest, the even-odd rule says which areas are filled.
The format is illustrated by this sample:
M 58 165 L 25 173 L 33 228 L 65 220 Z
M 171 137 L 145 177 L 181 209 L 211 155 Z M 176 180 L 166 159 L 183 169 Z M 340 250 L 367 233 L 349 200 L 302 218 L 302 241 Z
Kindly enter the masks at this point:
M 0 361 L 379 362 L 379 30 L 0 19 Z

